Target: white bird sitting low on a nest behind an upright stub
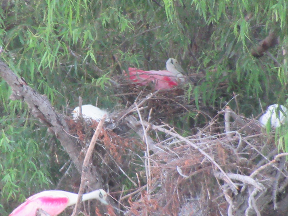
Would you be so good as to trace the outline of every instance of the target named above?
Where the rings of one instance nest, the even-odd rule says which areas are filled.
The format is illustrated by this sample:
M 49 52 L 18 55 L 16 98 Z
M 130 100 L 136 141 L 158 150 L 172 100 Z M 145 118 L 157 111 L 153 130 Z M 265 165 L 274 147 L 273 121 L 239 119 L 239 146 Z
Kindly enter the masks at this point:
M 106 122 L 109 122 L 109 113 L 99 109 L 98 107 L 94 107 L 91 104 L 86 104 L 86 105 L 82 105 L 82 115 L 83 118 L 86 121 L 89 121 L 90 119 L 96 120 L 97 122 L 99 122 L 103 115 L 106 114 Z M 80 110 L 79 107 L 75 107 L 75 109 L 72 111 L 72 115 L 73 115 L 73 120 L 76 120 L 79 115 L 80 115 Z

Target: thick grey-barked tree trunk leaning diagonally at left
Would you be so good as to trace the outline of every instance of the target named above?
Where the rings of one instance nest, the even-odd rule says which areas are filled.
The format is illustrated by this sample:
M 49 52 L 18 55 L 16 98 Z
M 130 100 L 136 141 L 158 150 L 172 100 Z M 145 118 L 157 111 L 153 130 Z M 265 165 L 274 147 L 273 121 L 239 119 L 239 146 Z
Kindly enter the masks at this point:
M 65 151 L 74 162 L 79 173 L 82 173 L 82 164 L 84 158 L 80 156 L 80 148 L 77 145 L 76 139 L 70 136 L 66 131 L 69 131 L 65 116 L 54 111 L 50 101 L 45 95 L 41 95 L 27 85 L 25 80 L 18 77 L 4 62 L 0 61 L 0 76 L 7 82 L 12 89 L 10 99 L 25 101 L 31 109 L 32 115 L 43 122 L 48 131 L 55 134 L 60 141 Z M 93 170 L 93 169 L 91 169 Z M 89 171 L 88 179 L 90 187 L 98 189 L 102 185 L 99 184 L 98 178 L 100 176 L 93 171 Z

